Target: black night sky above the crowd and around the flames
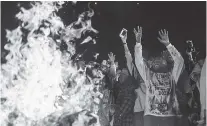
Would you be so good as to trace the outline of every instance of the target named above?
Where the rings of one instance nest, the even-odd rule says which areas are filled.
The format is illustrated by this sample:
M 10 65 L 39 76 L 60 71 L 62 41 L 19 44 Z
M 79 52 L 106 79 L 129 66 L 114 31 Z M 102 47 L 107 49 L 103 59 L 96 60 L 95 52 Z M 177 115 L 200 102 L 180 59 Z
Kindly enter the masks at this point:
M 18 26 L 15 14 L 19 7 L 28 8 L 28 2 L 2 2 L 1 49 L 6 42 L 5 29 Z M 87 10 L 88 2 L 68 2 L 59 16 L 66 25 L 77 20 L 77 16 Z M 149 55 L 164 48 L 158 40 L 158 30 L 167 29 L 170 41 L 181 52 L 185 52 L 185 41 L 193 40 L 199 49 L 199 59 L 206 56 L 206 2 L 91 2 L 95 15 L 92 25 L 99 31 L 97 44 L 93 51 L 100 53 L 100 60 L 107 59 L 107 53 L 116 54 L 123 64 L 124 50 L 119 33 L 122 28 L 128 30 L 128 46 L 133 53 L 135 38 L 133 28 L 143 27 L 143 46 Z M 4 55 L 5 53 L 2 53 Z

